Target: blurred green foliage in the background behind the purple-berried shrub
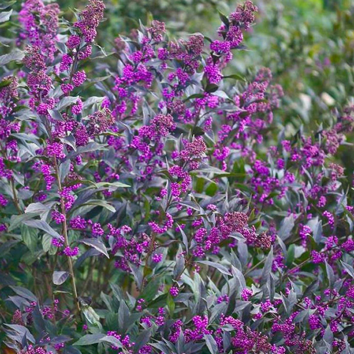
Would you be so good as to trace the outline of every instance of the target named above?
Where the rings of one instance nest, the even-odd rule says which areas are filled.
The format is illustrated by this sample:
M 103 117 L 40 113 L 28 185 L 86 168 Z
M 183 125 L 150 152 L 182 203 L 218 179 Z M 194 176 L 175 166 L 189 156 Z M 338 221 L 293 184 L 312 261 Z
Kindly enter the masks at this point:
M 46 2 L 46 1 L 45 1 Z M 67 19 L 86 0 L 57 0 Z M 202 32 L 216 38 L 221 23 L 218 10 L 228 14 L 242 0 L 105 0 L 107 19 L 99 27 L 98 42 L 111 51 L 119 34 L 129 34 L 152 18 L 166 22 L 169 37 Z M 285 92 L 275 122 L 287 134 L 303 126 L 307 131 L 324 127 L 330 112 L 354 96 L 354 0 L 254 0 L 257 22 L 246 35 L 248 49 L 236 51 L 232 73 L 252 78 L 259 67 L 269 67 L 274 83 Z M 0 0 L 1 3 L 1 0 Z M 13 4 L 21 8 L 21 1 Z M 4 34 L 1 34 L 4 33 Z M 0 36 L 14 36 L 5 34 Z M 1 38 L 0 38 L 1 42 Z M 6 48 L 0 46 L 0 54 Z M 353 140 L 349 137 L 349 140 Z M 353 172 L 354 149 L 342 147 L 339 159 Z

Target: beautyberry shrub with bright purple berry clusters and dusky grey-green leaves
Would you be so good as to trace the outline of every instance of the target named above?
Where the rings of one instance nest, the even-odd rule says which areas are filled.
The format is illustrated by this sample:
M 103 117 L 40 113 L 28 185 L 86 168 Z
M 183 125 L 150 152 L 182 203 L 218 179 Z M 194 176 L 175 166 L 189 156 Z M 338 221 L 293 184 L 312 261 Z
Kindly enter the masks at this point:
M 353 188 L 336 156 L 354 105 L 281 124 L 271 70 L 233 73 L 257 6 L 220 12 L 212 38 L 152 19 L 106 51 L 101 0 L 73 22 L 56 3 L 11 5 L 4 350 L 353 353 Z

